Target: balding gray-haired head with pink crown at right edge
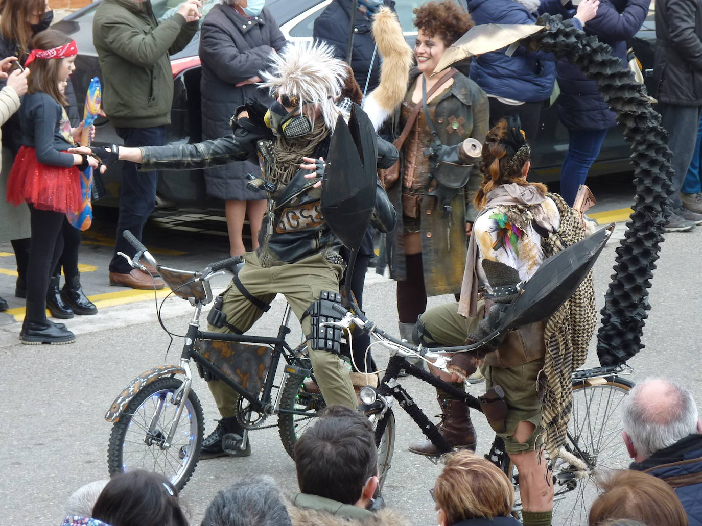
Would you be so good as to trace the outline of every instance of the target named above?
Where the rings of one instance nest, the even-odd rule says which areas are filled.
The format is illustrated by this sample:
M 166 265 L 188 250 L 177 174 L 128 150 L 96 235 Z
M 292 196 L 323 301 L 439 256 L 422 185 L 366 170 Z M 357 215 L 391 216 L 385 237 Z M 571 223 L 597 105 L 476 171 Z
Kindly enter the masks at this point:
M 644 459 L 697 433 L 697 421 L 692 395 L 670 380 L 647 378 L 624 398 L 624 431 Z

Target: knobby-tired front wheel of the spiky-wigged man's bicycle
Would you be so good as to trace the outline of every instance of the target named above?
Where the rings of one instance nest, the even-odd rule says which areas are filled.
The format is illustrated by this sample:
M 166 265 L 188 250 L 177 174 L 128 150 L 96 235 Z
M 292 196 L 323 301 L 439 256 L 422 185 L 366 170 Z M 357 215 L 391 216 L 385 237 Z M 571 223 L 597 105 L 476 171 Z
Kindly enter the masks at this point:
M 177 405 L 170 403 L 171 396 L 182 383 L 182 380 L 173 377 L 158 379 L 139 391 L 128 403 L 110 433 L 107 449 L 110 476 L 142 468 L 161 473 L 178 490 L 185 487 L 197 466 L 204 434 L 202 407 L 192 389 L 185 400 L 171 447 L 168 450 L 159 447 L 159 440 L 165 438 L 178 409 Z M 147 431 L 159 403 L 163 404 L 161 417 L 150 435 Z M 187 446 L 187 449 L 181 459 L 182 446 Z M 187 451 L 194 454 L 187 454 Z M 140 456 L 140 453 L 143 454 Z

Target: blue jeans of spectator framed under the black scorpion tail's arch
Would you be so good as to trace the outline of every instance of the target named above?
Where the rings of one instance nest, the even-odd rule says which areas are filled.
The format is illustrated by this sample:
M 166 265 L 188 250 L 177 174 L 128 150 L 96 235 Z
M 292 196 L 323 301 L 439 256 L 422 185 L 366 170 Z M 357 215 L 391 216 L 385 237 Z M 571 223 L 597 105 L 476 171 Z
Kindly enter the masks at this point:
M 568 130 L 570 143 L 561 167 L 561 196 L 573 206 L 578 188 L 585 183 L 590 166 L 600 154 L 607 129 Z

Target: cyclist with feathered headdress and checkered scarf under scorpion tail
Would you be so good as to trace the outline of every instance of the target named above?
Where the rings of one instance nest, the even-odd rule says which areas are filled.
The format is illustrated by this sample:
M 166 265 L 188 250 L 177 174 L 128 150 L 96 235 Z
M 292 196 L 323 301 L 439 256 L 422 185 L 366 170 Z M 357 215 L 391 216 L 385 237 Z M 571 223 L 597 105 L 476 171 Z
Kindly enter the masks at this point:
M 502 119 L 489 131 L 479 162 L 478 216 L 461 301 L 420 316 L 416 335 L 422 344 L 461 346 L 483 340 L 499 323 L 503 306 L 543 261 L 585 237 L 578 215 L 561 196 L 527 180 L 528 139 L 518 117 Z M 518 327 L 502 342 L 486 342 L 478 351 L 456 353 L 449 362 L 453 380 L 465 379 L 478 366 L 486 377 L 481 406 L 519 472 L 524 525 L 551 523 L 553 485 L 543 450 L 550 459 L 559 454 L 570 415 L 571 372 L 585 360 L 595 323 L 590 276 L 548 319 Z M 459 404 L 444 412 L 441 431 L 449 443 L 465 433 L 465 421 L 459 422 L 463 428 L 456 426 L 455 414 L 467 410 Z M 429 446 L 424 445 L 423 454 L 429 454 Z

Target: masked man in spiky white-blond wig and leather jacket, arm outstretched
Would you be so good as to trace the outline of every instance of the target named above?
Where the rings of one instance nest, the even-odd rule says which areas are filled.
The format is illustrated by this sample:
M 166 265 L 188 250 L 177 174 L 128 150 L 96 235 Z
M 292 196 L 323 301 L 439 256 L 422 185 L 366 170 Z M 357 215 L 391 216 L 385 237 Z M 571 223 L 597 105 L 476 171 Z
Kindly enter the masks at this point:
M 232 135 L 179 146 L 125 148 L 113 144 L 109 149 L 95 148 L 107 165 L 119 158 L 140 163 L 142 170 L 209 168 L 258 156 L 261 172 L 253 184 L 269 195 L 259 248 L 246 252 L 246 264 L 223 292 L 220 311 L 226 322 L 208 327 L 215 332 L 249 330 L 275 295 L 282 293 L 303 333 L 309 334 L 307 308 L 322 291 L 339 291 L 345 266 L 339 255 L 342 245 L 321 212 L 320 182 L 336 120 L 340 114 L 348 117 L 337 102 L 350 107 L 343 102 L 344 97 L 352 97 L 352 93 L 345 93 L 350 69 L 333 58 L 331 48 L 323 43 L 291 43 L 279 55 L 272 53 L 271 64 L 260 76 L 276 101 L 270 108 L 247 102 L 237 109 Z M 397 149 L 380 138 L 376 144 L 378 167 L 395 164 Z M 380 231 L 395 226 L 395 209 L 383 189 L 376 193 L 374 218 Z M 308 347 L 326 403 L 356 407 L 356 393 L 345 364 L 336 354 L 315 349 L 312 339 Z M 249 445 L 243 450 L 239 447 L 244 435 L 237 421 L 239 395 L 218 379 L 208 379 L 208 385 L 222 419 L 204 440 L 200 458 L 251 454 Z M 230 433 L 239 436 L 232 447 Z

